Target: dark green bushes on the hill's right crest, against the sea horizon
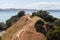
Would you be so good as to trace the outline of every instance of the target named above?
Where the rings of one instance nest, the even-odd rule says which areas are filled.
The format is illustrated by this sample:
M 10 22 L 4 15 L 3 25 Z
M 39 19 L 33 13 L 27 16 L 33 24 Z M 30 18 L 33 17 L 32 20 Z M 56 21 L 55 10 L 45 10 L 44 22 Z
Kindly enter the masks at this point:
M 54 22 L 54 21 L 57 19 L 57 18 L 49 15 L 49 12 L 47 12 L 47 11 L 42 11 L 42 10 L 37 11 L 37 12 L 33 12 L 33 13 L 32 13 L 32 16 L 41 17 L 41 18 L 43 18 L 45 21 L 51 22 L 51 23 Z

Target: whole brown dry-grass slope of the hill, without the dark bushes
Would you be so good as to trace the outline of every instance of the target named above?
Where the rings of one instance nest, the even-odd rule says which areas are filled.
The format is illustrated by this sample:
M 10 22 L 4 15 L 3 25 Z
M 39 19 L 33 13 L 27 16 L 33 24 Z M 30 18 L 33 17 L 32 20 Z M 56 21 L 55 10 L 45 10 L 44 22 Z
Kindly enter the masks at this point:
M 37 16 L 33 18 L 30 18 L 30 15 L 23 16 L 6 30 L 6 33 L 2 35 L 2 40 L 47 40 L 44 34 L 37 32 L 34 27 L 38 20 L 44 21 Z

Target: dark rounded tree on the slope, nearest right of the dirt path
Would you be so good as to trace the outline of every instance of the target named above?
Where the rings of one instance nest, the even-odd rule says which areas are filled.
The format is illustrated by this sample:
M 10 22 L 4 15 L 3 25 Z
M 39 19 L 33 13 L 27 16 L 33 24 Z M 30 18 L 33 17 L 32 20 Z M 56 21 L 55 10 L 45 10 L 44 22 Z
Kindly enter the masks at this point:
M 43 25 L 44 25 L 44 22 L 42 20 L 38 20 L 35 23 L 35 28 L 36 28 L 37 32 L 41 32 L 43 34 L 46 34 L 46 30 L 44 29 Z

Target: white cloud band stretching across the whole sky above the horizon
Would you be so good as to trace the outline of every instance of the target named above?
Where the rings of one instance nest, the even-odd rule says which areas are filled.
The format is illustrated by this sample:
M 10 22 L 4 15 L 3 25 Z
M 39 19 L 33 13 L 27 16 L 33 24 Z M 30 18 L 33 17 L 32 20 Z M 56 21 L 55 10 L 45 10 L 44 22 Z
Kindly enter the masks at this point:
M 60 9 L 60 2 L 38 2 L 27 4 L 26 6 L 15 4 L 3 4 L 0 8 L 27 8 L 27 9 Z

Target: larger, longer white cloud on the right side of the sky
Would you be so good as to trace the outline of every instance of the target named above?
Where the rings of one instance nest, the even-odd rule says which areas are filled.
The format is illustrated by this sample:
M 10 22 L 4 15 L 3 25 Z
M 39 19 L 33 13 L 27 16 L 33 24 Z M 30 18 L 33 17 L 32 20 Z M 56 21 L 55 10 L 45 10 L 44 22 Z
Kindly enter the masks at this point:
M 26 5 L 28 9 L 60 9 L 60 2 L 38 2 Z

